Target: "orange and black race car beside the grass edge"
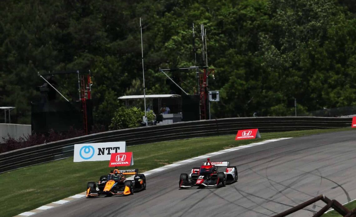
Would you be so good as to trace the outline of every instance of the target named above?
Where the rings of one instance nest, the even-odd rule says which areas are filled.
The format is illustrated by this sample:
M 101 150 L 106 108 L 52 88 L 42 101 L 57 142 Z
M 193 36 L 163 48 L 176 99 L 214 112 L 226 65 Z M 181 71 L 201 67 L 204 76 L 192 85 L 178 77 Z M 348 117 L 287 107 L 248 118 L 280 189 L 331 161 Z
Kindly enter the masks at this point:
M 135 175 L 133 180 L 126 180 L 126 175 Z M 146 189 L 146 177 L 138 174 L 138 169 L 111 170 L 109 175 L 101 176 L 98 183 L 88 182 L 87 198 L 113 195 L 133 195 Z

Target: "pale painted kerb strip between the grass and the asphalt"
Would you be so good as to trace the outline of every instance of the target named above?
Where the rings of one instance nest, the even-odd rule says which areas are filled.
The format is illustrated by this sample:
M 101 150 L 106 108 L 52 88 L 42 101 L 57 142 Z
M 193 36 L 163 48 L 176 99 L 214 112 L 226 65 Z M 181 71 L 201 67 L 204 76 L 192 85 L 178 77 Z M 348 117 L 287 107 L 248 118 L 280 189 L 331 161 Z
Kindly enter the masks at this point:
M 162 167 L 159 167 L 159 168 L 156 168 L 156 169 L 153 169 L 153 170 L 149 170 L 149 171 L 143 172 L 143 174 L 145 174 L 145 176 L 149 176 L 149 175 L 157 173 L 157 172 L 161 172 L 161 171 L 164 171 L 164 170 L 171 169 L 172 167 L 181 166 L 181 165 L 184 165 L 184 164 L 196 161 L 196 160 L 200 160 L 200 159 L 206 159 L 207 157 L 211 157 L 211 156 L 214 156 L 214 155 L 224 154 L 224 153 L 228 153 L 228 152 L 231 152 L 231 151 L 250 148 L 250 147 L 253 147 L 253 146 L 262 145 L 262 144 L 266 144 L 266 143 L 272 143 L 272 142 L 280 141 L 280 140 L 284 140 L 284 139 L 291 139 L 291 138 L 270 139 L 270 140 L 265 140 L 265 141 L 261 141 L 261 142 L 258 142 L 258 143 L 252 143 L 252 144 L 249 144 L 249 145 L 241 145 L 241 146 L 237 146 L 237 147 L 230 148 L 230 149 L 224 149 L 224 150 L 221 150 L 221 151 L 216 151 L 216 152 L 205 154 L 205 155 L 201 155 L 201 156 L 198 156 L 198 157 L 193 157 L 193 158 L 190 158 L 190 159 L 187 159 L 187 160 L 178 161 L 178 162 L 175 162 L 174 164 L 169 164 L 169 165 L 166 165 L 166 166 L 162 166 Z M 128 177 L 128 179 L 133 179 L 133 176 Z M 86 194 L 87 194 L 87 192 L 84 191 L 84 192 L 79 193 L 77 195 L 73 195 L 73 196 L 64 198 L 63 200 L 59 200 L 59 201 L 55 201 L 55 202 L 52 202 L 52 203 L 48 203 L 47 205 L 38 207 L 35 210 L 31 210 L 29 212 L 20 213 L 17 216 L 18 217 L 31 216 L 31 215 L 34 215 L 36 213 L 42 212 L 43 210 L 48 210 L 50 208 L 62 205 L 64 203 L 68 203 L 68 202 L 73 201 L 73 200 L 79 200 L 79 198 L 85 197 Z

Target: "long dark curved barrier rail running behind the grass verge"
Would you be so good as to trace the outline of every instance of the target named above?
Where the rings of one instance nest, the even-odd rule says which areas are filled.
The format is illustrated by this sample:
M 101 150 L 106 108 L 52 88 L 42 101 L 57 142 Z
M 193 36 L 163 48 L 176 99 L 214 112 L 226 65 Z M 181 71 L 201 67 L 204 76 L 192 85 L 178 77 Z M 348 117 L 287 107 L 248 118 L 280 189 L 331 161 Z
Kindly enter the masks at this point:
M 36 145 L 0 154 L 0 173 L 73 156 L 74 144 L 126 141 L 129 145 L 204 136 L 236 134 L 237 130 L 258 128 L 260 132 L 350 127 L 352 118 L 258 117 L 179 122 L 96 133 Z

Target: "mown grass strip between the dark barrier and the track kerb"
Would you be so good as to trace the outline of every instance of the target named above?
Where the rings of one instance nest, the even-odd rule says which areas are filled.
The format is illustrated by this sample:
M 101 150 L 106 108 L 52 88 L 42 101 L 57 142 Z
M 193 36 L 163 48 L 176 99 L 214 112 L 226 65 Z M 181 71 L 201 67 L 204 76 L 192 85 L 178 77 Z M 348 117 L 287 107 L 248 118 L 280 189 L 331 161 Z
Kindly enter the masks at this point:
M 262 133 L 261 136 L 267 140 L 344 130 L 351 128 Z M 261 140 L 235 141 L 235 135 L 225 135 L 128 146 L 127 151 L 133 152 L 135 168 L 143 172 Z M 73 157 L 69 157 L 0 174 L 0 192 L 6 192 L 0 197 L 1 216 L 15 216 L 83 192 L 88 181 L 97 181 L 100 175 L 108 173 L 108 165 L 108 161 L 73 162 Z

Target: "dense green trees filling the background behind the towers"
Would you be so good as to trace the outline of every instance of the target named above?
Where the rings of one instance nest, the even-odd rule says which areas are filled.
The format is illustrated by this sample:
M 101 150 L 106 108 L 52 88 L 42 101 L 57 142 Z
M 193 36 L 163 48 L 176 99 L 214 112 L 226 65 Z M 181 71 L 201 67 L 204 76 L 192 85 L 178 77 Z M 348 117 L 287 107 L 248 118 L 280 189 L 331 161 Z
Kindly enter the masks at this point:
M 0 7 L 0 105 L 16 106 L 19 123 L 30 122 L 43 83 L 37 71 L 90 69 L 95 122 L 108 125 L 117 97 L 142 94 L 140 17 L 148 94 L 170 91 L 159 67 L 194 65 L 194 22 L 207 30 L 216 78 L 209 88 L 221 92 L 214 117 L 292 115 L 294 98 L 302 111 L 356 105 L 349 0 L 4 0 Z M 194 72 L 171 75 L 194 93 Z M 55 79 L 77 100 L 75 75 Z

